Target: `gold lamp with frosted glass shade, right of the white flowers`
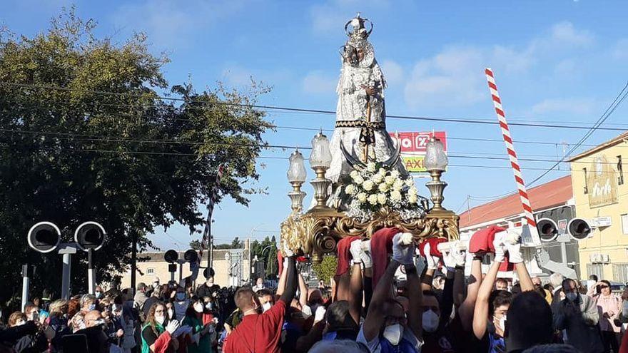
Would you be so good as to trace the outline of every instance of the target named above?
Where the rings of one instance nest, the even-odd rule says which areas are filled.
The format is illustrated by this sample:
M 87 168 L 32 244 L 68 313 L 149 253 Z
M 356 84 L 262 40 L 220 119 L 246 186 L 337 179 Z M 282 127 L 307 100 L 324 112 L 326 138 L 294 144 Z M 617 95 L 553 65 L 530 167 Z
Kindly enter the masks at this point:
M 440 180 L 440 175 L 447 169 L 447 163 L 445 148 L 440 140 L 433 137 L 430 138 L 427 142 L 427 151 L 423 165 L 425 169 L 430 172 L 430 176 L 432 177 L 432 180 L 425 183 L 425 186 L 430 190 L 430 198 L 432 199 L 432 203 L 434 203 L 432 210 L 435 211 L 445 210 L 445 208 L 442 208 L 442 201 L 445 200 L 442 196 L 442 192 L 445 190 L 447 183 Z

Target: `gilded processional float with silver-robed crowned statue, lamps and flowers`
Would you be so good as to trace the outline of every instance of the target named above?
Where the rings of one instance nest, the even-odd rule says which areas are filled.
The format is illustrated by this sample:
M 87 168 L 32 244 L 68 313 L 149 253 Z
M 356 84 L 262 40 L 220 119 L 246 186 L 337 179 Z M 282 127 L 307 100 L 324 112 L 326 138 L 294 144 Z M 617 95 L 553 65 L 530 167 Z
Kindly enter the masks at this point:
M 309 255 L 313 263 L 335 252 L 344 237 L 371 237 L 384 227 L 410 232 L 416 242 L 459 238 L 458 216 L 442 207 L 447 186 L 440 180 L 447 167 L 442 143 L 432 138 L 424 159 L 431 176 L 426 183 L 430 207 L 403 165 L 399 143 L 386 131 L 386 82 L 368 41 L 372 31 L 373 24 L 360 14 L 345 24 L 348 39 L 340 48 L 335 130 L 331 140 L 322 131 L 312 140 L 314 199 L 305 212 L 304 158 L 298 150 L 290 155 L 292 213 L 281 223 L 281 248 Z

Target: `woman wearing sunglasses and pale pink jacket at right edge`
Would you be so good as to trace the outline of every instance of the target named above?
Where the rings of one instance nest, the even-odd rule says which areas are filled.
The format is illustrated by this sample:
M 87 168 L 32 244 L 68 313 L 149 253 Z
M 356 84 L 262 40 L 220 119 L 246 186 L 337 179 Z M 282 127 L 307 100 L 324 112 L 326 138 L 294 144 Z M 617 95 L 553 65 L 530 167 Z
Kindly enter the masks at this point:
M 599 317 L 599 329 L 602 332 L 602 343 L 604 352 L 619 352 L 619 327 L 615 326 L 614 320 L 619 317 L 622 311 L 622 300 L 611 292 L 611 284 L 607 280 L 601 280 L 595 285 L 593 295 Z

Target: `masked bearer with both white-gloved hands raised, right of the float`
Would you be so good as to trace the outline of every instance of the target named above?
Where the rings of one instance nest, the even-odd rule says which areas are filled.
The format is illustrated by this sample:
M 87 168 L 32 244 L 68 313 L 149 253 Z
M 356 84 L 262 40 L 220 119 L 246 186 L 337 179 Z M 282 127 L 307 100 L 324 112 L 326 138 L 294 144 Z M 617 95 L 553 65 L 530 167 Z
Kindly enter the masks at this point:
M 493 263 L 487 272 L 475 302 L 472 330 L 480 340 L 478 352 L 498 353 L 505 352 L 507 311 L 512 300 L 512 293 L 503 290 L 492 291 L 502 262 L 515 265 L 517 276 L 520 278 L 522 292 L 534 290 L 530 274 L 527 272 L 521 252 L 521 234 L 518 230 L 504 230 L 495 234 L 492 242 L 495 249 Z

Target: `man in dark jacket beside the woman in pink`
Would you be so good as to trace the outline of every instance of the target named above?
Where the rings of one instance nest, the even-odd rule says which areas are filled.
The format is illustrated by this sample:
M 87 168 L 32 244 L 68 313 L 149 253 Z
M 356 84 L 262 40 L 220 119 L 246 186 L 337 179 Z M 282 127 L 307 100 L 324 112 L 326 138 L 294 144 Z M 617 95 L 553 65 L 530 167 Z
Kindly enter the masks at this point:
M 599 314 L 594 300 L 587 295 L 580 295 L 576 281 L 562 281 L 565 299 L 559 300 L 554 295 L 552 313 L 554 327 L 564 329 L 567 334 L 565 343 L 572 345 L 579 352 L 604 352 L 599 334 Z

